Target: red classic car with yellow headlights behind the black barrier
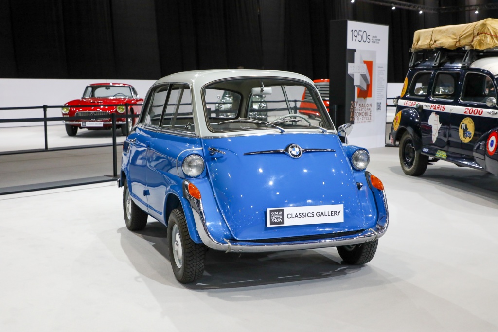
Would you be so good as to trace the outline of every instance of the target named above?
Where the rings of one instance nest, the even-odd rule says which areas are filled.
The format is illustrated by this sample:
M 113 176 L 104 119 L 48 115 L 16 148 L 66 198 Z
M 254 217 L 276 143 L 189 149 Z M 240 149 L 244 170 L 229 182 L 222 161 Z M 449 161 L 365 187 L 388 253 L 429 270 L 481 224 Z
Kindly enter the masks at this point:
M 135 88 L 129 84 L 96 83 L 85 88 L 81 99 L 75 99 L 64 104 L 62 116 L 101 116 L 112 113 L 123 115 L 126 113 L 125 104 L 129 105 L 129 114 L 139 114 L 142 103 L 143 99 L 139 98 Z M 86 105 L 91 107 L 85 107 Z M 78 128 L 110 129 L 112 127 L 111 116 L 108 118 L 85 118 L 63 122 L 69 136 L 75 136 Z M 126 122 L 125 117 L 118 116 L 116 118 L 116 124 L 121 127 L 123 135 L 126 135 L 126 123 L 129 133 L 135 122 L 136 118 L 133 117 L 129 118 L 128 122 Z

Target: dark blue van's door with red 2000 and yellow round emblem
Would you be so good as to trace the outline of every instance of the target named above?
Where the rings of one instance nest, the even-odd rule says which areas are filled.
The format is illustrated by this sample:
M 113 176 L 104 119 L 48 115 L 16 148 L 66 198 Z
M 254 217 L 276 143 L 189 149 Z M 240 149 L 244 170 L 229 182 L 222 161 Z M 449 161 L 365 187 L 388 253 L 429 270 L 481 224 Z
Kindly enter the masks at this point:
M 474 145 L 487 131 L 498 126 L 496 107 L 488 107 L 486 100 L 497 98 L 493 76 L 479 70 L 465 74 L 462 94 L 451 113 L 449 150 L 473 158 Z

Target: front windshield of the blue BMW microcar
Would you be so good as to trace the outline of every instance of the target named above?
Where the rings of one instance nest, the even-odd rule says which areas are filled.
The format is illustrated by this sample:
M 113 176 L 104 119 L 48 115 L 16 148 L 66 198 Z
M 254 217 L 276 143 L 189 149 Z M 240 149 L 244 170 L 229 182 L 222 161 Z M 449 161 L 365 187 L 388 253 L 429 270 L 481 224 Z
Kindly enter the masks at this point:
M 306 94 L 310 98 L 302 100 Z M 323 102 L 308 84 L 281 78 L 237 78 L 203 88 L 212 131 L 321 127 L 333 129 Z

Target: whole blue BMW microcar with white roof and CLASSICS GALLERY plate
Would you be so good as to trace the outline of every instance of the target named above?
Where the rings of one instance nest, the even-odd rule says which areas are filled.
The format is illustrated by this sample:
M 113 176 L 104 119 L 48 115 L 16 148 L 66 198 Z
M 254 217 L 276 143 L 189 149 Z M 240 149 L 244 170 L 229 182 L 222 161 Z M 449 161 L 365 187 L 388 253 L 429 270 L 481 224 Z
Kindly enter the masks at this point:
M 299 74 L 164 77 L 123 144 L 126 227 L 143 229 L 148 216 L 167 225 L 181 283 L 202 276 L 207 248 L 337 247 L 346 264 L 365 264 L 388 211 L 382 182 L 366 171 L 368 151 L 341 142 L 350 129 L 335 129 L 317 87 Z

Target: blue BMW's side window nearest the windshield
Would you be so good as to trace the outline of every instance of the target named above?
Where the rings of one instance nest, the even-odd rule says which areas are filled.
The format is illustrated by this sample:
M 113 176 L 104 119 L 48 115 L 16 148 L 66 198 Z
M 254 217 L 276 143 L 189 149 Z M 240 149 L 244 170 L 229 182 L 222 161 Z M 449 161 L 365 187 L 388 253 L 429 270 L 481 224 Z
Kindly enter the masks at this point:
M 164 112 L 163 128 L 194 131 L 192 96 L 188 85 L 173 84 Z

